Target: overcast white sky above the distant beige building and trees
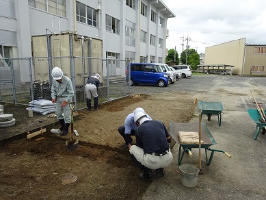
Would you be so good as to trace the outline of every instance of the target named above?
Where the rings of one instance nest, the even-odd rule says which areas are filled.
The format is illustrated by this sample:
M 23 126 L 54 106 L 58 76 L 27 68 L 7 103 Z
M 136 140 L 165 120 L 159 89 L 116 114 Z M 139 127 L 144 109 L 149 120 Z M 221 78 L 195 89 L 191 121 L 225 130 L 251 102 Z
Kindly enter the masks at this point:
M 182 38 L 189 48 L 205 47 L 246 38 L 248 44 L 266 43 L 266 0 L 163 0 L 176 15 L 168 18 L 166 47 L 182 52 Z M 184 49 L 187 45 L 185 40 Z

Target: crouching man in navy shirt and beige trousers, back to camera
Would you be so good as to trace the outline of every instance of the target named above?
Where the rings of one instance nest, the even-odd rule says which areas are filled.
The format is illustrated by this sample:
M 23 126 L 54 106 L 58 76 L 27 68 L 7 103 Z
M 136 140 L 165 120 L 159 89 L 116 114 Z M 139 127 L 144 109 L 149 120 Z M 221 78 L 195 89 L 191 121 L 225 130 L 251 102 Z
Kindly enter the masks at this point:
M 171 136 L 161 121 L 150 120 L 142 112 L 134 114 L 134 121 L 137 125 L 137 145 L 129 145 L 129 152 L 135 164 L 144 171 L 139 174 L 139 178 L 151 181 L 154 178 L 152 170 L 156 170 L 157 176 L 163 177 L 163 168 L 173 160 L 168 144 Z

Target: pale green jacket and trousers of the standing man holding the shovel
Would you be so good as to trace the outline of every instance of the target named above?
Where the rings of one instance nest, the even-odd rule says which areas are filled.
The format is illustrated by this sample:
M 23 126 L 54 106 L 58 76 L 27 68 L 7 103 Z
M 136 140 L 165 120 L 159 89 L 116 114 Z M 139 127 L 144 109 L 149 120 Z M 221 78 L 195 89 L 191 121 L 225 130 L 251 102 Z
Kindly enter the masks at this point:
M 71 110 L 68 104 L 74 97 L 74 90 L 71 80 L 64 75 L 62 77 L 62 82 L 60 83 L 53 79 L 53 84 L 51 86 L 51 97 L 52 99 L 56 99 L 55 114 L 57 118 L 59 120 L 64 118 L 65 123 L 71 123 Z M 65 107 L 61 106 L 63 101 L 67 102 Z

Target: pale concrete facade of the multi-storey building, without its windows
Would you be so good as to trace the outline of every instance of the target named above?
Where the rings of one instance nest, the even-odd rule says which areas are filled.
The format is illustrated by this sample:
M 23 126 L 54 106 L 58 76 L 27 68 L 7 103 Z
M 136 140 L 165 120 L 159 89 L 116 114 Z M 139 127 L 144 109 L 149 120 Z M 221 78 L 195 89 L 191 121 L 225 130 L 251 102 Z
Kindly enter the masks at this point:
M 54 2 L 54 1 L 51 1 Z M 107 52 L 114 52 L 120 55 L 120 59 L 125 58 L 125 52 L 135 53 L 135 61 L 139 62 L 139 56 L 155 56 L 165 60 L 166 25 L 169 17 L 175 17 L 174 13 L 166 7 L 163 1 L 135 1 L 135 8 L 126 5 L 125 0 L 79 0 L 96 12 L 97 26 L 88 25 L 77 21 L 76 0 L 66 0 L 66 15 L 59 16 L 40 9 L 37 3 L 44 1 L 27 0 L 0 0 L 0 45 L 9 45 L 17 48 L 12 53 L 13 58 L 31 57 L 31 37 L 45 34 L 59 34 L 60 32 L 72 32 L 90 38 L 103 40 L 103 58 Z M 141 2 L 147 5 L 147 16 L 140 14 Z M 34 4 L 35 3 L 35 4 Z M 150 20 L 151 10 L 156 12 L 156 23 Z M 120 33 L 111 33 L 106 30 L 106 14 L 117 18 L 120 21 Z M 163 27 L 159 26 L 159 16 L 163 18 Z M 135 23 L 135 45 L 125 45 L 125 25 L 126 21 Z M 140 30 L 147 32 L 146 43 L 139 41 Z M 155 46 L 150 45 L 150 34 L 156 36 Z M 5 39 L 3 39 L 5 38 Z M 158 47 L 159 38 L 163 39 L 163 48 Z

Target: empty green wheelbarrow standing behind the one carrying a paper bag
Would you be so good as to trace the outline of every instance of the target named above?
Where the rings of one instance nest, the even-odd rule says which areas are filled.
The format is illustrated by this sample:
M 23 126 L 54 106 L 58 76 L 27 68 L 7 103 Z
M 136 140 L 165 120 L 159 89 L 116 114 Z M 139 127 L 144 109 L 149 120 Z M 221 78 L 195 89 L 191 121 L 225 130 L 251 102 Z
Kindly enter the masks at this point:
M 211 121 L 211 115 L 217 114 L 218 124 L 221 126 L 222 123 L 222 112 L 224 110 L 222 102 L 220 101 L 198 101 L 198 109 L 201 110 L 202 114 L 207 114 L 208 121 Z

